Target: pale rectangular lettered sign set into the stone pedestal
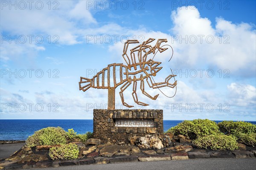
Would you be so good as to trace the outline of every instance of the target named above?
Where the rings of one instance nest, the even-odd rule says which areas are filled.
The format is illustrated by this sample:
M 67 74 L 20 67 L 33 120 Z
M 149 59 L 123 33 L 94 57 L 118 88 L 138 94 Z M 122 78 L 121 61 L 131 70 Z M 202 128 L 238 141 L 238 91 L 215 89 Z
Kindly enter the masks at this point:
M 153 119 L 119 118 L 115 122 L 116 127 L 154 127 Z

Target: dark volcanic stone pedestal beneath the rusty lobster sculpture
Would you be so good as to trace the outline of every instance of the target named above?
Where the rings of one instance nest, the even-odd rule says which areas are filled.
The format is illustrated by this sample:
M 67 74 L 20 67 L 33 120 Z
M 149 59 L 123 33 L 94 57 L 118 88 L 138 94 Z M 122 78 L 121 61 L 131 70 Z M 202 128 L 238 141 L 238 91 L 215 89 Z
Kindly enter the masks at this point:
M 163 134 L 163 110 L 93 109 L 93 136 L 126 142 L 132 136 Z

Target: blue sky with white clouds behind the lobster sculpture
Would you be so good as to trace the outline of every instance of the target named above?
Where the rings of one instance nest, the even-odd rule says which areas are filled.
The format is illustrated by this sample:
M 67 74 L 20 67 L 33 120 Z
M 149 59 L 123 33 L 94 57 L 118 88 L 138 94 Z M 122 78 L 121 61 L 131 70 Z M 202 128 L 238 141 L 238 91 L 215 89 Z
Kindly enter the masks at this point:
M 125 63 L 127 38 L 142 43 L 152 37 L 166 38 L 174 49 L 170 62 L 170 49 L 154 58 L 163 66 L 155 81 L 172 69 L 177 93 L 166 98 L 147 88 L 160 93 L 153 101 L 138 88 L 139 100 L 149 104 L 142 107 L 129 87 L 127 103 L 163 109 L 166 120 L 256 121 L 255 6 L 253 0 L 1 0 L 0 118 L 92 119 L 94 108 L 106 108 L 108 92 L 79 91 L 80 76 L 92 78 L 108 64 Z M 116 109 L 126 109 L 119 88 Z

